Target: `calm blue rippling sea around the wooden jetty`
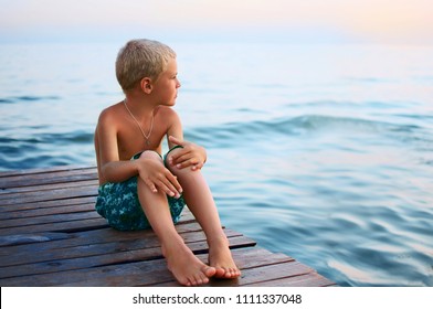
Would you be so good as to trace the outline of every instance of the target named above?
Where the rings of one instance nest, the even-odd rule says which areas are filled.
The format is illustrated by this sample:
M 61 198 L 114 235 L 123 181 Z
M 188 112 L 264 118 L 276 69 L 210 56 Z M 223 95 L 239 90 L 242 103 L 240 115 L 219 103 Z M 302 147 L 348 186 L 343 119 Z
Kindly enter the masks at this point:
M 342 286 L 433 286 L 433 46 L 170 45 L 224 225 Z M 95 164 L 120 46 L 0 46 L 0 170 Z

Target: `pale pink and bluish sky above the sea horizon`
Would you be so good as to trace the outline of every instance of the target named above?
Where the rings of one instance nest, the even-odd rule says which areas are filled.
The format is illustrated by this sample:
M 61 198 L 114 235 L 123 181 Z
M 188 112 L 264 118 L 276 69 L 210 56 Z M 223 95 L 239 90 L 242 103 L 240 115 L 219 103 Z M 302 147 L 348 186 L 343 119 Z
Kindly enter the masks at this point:
M 0 42 L 261 40 L 433 44 L 433 0 L 0 0 Z

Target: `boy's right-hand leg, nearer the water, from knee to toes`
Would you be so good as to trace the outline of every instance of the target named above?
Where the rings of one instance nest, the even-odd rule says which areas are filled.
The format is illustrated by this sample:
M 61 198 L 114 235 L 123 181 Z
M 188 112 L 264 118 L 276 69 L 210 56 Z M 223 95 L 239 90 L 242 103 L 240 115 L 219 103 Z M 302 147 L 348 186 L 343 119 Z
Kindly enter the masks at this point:
M 167 158 L 176 153 L 172 150 Z M 203 228 L 209 245 L 209 263 L 215 267 L 215 277 L 236 278 L 241 271 L 236 267 L 229 248 L 229 241 L 221 227 L 220 216 L 212 193 L 201 171 L 192 171 L 190 168 L 178 169 L 168 167 L 178 177 L 183 189 L 183 199 Z

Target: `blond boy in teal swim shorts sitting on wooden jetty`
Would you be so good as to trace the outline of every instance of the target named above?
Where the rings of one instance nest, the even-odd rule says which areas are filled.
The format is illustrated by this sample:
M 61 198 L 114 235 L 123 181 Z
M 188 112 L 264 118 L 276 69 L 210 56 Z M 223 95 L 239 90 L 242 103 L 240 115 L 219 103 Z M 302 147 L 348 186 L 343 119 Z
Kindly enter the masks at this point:
M 183 140 L 180 119 L 171 108 L 180 87 L 176 53 L 156 41 L 129 41 L 117 55 L 116 76 L 126 98 L 102 111 L 95 130 L 97 212 L 118 230 L 151 227 L 181 285 L 239 277 L 200 171 L 207 152 Z M 165 136 L 170 151 L 162 159 Z M 175 228 L 184 204 L 207 236 L 209 265 L 193 255 Z

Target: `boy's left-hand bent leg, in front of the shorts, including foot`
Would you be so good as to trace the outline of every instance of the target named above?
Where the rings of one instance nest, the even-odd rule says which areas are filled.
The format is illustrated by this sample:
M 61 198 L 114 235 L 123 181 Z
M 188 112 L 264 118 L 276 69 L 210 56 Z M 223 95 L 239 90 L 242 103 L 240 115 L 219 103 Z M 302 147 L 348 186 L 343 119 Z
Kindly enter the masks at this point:
M 159 160 L 163 164 L 161 158 L 156 152 L 145 151 L 141 156 L 155 158 L 155 160 Z M 176 279 L 186 286 L 208 283 L 209 277 L 214 276 L 215 269 L 197 258 L 176 231 L 166 193 L 161 190 L 157 193 L 151 192 L 140 178 L 137 180 L 137 190 L 141 207 L 161 243 L 162 254 L 167 259 L 168 268 Z

